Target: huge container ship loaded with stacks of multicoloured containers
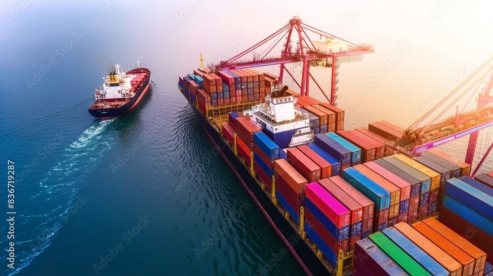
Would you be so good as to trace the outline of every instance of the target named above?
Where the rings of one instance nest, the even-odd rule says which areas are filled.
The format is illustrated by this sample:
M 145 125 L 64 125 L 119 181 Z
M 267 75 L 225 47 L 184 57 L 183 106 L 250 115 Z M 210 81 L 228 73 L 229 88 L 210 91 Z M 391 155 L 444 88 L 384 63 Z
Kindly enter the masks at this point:
M 432 137 L 387 121 L 346 130 L 333 93 L 332 104 L 297 93 L 282 75 L 253 69 L 260 65 L 202 65 L 180 75 L 178 88 L 307 275 L 493 275 L 493 173 L 476 175 L 435 148 L 493 122 L 482 113 L 490 105 L 454 133 L 440 120 Z M 493 78 L 486 84 L 480 100 L 493 99 L 484 92 Z M 303 242 L 290 243 L 293 235 Z

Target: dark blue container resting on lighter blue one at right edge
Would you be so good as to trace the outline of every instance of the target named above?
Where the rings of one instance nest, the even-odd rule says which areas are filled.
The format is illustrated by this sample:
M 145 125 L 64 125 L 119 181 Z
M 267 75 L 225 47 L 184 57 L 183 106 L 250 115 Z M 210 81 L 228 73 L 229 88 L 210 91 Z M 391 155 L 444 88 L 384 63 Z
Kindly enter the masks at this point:
M 493 197 L 457 178 L 447 180 L 444 194 L 493 221 Z

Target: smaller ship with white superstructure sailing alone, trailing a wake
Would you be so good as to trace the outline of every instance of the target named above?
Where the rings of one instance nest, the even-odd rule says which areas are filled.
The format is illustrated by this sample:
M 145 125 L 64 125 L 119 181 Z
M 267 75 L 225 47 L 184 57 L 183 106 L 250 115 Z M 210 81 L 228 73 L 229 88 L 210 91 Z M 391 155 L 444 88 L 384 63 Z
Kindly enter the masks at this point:
M 149 89 L 149 69 L 138 68 L 123 72 L 116 64 L 115 70 L 104 76 L 103 87 L 96 89 L 94 102 L 89 113 L 99 119 L 109 119 L 136 107 Z

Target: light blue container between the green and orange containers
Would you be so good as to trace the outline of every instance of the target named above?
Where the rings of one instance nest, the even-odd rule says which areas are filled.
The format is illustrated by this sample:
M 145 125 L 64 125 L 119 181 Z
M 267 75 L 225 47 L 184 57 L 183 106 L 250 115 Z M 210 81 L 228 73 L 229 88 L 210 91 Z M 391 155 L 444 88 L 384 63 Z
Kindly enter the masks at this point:
M 449 275 L 449 272 L 442 267 L 435 259 L 425 253 L 418 245 L 411 242 L 406 236 L 402 235 L 397 229 L 390 227 L 382 231 L 388 239 L 392 240 L 397 246 L 404 250 L 411 258 L 418 262 L 427 272 L 433 276 Z

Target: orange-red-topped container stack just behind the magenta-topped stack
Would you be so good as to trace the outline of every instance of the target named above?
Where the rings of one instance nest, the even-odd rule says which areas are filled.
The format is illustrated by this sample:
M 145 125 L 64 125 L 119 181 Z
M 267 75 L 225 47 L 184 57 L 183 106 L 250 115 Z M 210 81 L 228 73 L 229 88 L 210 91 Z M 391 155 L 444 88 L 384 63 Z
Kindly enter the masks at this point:
M 308 181 L 284 159 L 274 161 L 276 198 L 297 223 L 300 206 L 305 205 L 305 186 Z

